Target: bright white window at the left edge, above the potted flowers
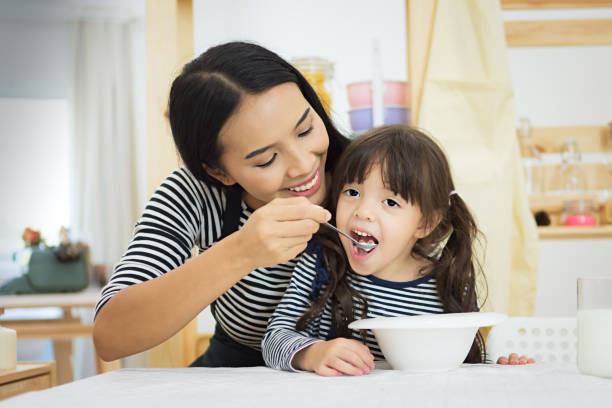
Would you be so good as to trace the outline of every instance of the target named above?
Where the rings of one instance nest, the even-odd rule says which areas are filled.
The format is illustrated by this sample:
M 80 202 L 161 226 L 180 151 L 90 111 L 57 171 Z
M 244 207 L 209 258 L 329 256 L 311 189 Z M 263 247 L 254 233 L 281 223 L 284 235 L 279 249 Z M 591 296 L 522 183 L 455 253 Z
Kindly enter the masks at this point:
M 12 253 L 26 227 L 57 243 L 70 223 L 69 103 L 0 98 L 0 280 L 14 272 Z M 6 278 L 6 276 L 4 276 Z

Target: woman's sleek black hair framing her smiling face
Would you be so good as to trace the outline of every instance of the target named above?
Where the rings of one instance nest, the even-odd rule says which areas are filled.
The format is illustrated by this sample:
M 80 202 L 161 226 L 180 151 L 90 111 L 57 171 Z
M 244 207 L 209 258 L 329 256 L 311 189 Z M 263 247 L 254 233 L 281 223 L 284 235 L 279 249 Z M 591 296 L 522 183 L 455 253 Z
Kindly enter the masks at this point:
M 329 136 L 326 170 L 333 170 L 348 144 L 332 124 L 308 81 L 287 61 L 256 44 L 230 42 L 209 48 L 183 67 L 170 89 L 168 116 L 174 143 L 200 180 L 221 185 L 202 164 L 219 168 L 219 132 L 245 94 L 293 82 L 323 120 Z

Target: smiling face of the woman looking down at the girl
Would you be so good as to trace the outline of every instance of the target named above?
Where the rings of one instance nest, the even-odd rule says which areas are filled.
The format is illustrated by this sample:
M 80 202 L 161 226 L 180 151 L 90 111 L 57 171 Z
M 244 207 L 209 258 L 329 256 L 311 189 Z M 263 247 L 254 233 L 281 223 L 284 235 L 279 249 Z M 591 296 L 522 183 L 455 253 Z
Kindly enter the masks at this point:
M 238 183 L 253 209 L 277 197 L 325 198 L 329 137 L 323 121 L 294 83 L 243 97 L 219 133 L 223 169 L 207 169 L 226 185 Z

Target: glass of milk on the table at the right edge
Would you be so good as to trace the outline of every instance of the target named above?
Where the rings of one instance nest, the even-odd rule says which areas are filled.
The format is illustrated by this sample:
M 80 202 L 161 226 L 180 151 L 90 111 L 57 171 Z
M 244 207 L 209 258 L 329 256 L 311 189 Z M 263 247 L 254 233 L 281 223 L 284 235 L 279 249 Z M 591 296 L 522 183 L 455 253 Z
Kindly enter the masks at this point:
M 578 369 L 612 378 L 612 276 L 578 278 Z

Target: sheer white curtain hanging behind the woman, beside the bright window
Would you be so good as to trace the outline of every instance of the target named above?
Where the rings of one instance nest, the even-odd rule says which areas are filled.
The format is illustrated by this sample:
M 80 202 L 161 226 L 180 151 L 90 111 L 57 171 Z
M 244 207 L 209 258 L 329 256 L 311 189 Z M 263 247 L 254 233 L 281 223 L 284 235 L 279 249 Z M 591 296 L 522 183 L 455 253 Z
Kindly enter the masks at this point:
M 80 21 L 76 28 L 72 230 L 107 274 L 127 248 L 140 210 L 142 130 L 134 50 L 141 20 Z

